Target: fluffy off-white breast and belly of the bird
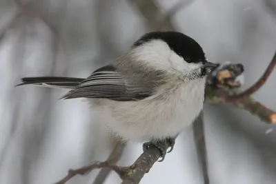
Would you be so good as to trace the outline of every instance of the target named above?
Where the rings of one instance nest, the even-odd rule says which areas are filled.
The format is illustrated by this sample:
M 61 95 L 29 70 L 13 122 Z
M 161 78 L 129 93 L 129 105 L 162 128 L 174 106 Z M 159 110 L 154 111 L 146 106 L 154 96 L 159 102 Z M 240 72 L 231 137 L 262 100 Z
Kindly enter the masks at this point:
M 142 101 L 92 99 L 112 134 L 128 141 L 175 136 L 193 122 L 203 107 L 205 79 L 177 83 Z M 166 98 L 164 98 L 166 96 Z

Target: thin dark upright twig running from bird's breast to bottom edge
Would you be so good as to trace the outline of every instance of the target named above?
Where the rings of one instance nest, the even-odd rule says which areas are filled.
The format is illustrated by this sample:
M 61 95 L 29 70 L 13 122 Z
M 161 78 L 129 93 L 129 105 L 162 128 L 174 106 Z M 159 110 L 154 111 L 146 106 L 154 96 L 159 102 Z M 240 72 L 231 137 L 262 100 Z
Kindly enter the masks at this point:
M 204 118 L 203 112 L 199 114 L 197 119 L 193 122 L 193 131 L 194 131 L 194 141 L 197 148 L 197 157 L 201 163 L 201 169 L 204 178 L 204 184 L 209 184 L 210 179 L 208 176 L 208 167 L 207 167 L 207 152 L 206 152 L 206 142 L 204 136 Z

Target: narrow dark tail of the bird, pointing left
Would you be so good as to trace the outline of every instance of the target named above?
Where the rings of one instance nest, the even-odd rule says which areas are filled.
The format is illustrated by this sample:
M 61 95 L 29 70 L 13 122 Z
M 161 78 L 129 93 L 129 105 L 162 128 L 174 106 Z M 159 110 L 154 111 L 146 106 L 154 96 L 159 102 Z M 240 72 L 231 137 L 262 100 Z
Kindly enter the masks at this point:
M 73 89 L 81 81 L 84 79 L 82 78 L 72 78 L 72 77 L 63 77 L 63 76 L 37 76 L 37 77 L 25 77 L 22 78 L 22 83 L 19 83 L 16 86 L 19 85 L 39 85 L 43 87 L 49 87 L 49 88 L 68 88 Z

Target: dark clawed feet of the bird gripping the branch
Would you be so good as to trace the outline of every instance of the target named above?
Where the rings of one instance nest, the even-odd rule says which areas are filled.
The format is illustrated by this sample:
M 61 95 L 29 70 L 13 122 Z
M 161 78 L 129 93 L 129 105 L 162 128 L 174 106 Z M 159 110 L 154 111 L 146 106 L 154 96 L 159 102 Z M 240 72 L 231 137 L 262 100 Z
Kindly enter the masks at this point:
M 160 155 L 161 160 L 159 162 L 162 162 L 164 161 L 165 156 L 167 154 L 167 150 L 164 148 L 166 147 L 167 144 L 170 147 L 170 150 L 168 151 L 168 153 L 172 152 L 173 147 L 175 145 L 175 138 L 168 137 L 166 139 L 152 139 L 152 141 L 143 144 L 143 151 L 145 152 L 150 146 L 157 147 L 157 149 L 161 152 L 161 155 Z

